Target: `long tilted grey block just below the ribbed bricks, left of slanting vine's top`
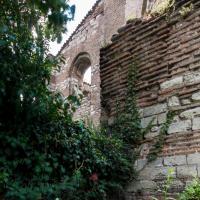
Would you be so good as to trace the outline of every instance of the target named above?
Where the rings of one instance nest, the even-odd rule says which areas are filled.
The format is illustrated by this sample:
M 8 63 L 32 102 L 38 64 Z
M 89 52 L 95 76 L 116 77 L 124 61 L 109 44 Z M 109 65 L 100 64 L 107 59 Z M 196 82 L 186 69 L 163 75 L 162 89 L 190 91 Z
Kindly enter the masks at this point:
M 143 114 L 144 114 L 144 117 L 148 117 L 148 116 L 160 114 L 166 111 L 167 111 L 167 104 L 163 103 L 163 104 L 157 104 L 157 105 L 144 108 Z

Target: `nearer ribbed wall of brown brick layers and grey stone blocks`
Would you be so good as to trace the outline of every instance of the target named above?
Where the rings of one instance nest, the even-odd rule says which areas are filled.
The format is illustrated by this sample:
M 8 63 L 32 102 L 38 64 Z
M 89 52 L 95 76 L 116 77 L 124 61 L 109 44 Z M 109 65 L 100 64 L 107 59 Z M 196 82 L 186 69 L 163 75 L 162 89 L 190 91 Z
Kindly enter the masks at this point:
M 177 10 L 148 21 L 129 21 L 119 29 L 111 45 L 101 50 L 100 76 L 102 120 L 112 123 L 115 103 L 123 105 L 127 71 L 138 60 L 138 105 L 142 126 L 155 118 L 153 128 L 141 144 L 135 167 L 138 180 L 127 187 L 127 200 L 150 199 L 160 195 L 167 169 L 174 169 L 171 196 L 200 176 L 200 2 L 178 0 L 180 10 L 194 3 L 194 10 L 183 18 Z M 166 113 L 176 111 L 164 147 L 154 162 L 147 162 Z

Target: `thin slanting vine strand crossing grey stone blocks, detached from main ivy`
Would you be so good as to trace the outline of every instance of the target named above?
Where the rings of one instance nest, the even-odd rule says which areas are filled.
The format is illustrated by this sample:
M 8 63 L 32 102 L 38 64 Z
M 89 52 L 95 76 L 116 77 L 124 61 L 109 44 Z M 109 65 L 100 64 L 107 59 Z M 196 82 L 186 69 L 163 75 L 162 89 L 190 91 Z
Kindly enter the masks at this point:
M 167 130 L 170 126 L 170 124 L 173 121 L 175 113 L 174 112 L 168 112 L 167 113 L 167 120 L 166 122 L 162 125 L 157 141 L 156 143 L 153 145 L 152 149 L 150 150 L 150 153 L 148 154 L 147 158 L 148 161 L 154 161 L 158 154 L 162 151 L 163 149 L 163 145 L 164 145 L 164 141 L 165 141 L 165 135 L 167 134 Z

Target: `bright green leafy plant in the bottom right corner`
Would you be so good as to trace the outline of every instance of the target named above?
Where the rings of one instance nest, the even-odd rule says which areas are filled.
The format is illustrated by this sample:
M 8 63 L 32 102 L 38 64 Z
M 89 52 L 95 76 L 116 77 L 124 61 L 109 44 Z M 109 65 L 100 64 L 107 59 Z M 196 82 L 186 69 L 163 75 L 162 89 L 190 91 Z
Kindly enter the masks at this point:
M 192 184 L 180 194 L 179 200 L 199 200 L 200 199 L 200 180 L 195 179 Z

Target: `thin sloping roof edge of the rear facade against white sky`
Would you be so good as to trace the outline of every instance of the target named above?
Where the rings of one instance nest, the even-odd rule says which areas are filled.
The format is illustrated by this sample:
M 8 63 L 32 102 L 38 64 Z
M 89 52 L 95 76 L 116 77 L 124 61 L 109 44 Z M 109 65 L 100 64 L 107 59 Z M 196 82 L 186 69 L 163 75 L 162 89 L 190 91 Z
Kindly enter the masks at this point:
M 57 56 L 62 52 L 62 50 L 72 41 L 73 36 L 77 33 L 78 29 L 85 24 L 85 21 L 89 16 L 91 16 L 96 8 L 99 6 L 99 3 L 102 2 L 102 0 L 97 0 L 96 3 L 92 6 L 92 8 L 88 11 L 86 16 L 83 18 L 83 20 L 80 22 L 80 24 L 76 27 L 74 32 L 71 34 L 71 36 L 66 40 L 66 42 L 63 44 L 59 52 L 57 53 Z

